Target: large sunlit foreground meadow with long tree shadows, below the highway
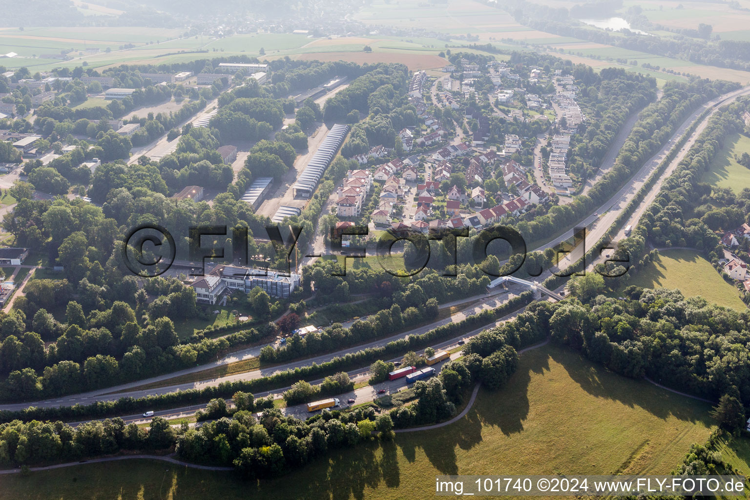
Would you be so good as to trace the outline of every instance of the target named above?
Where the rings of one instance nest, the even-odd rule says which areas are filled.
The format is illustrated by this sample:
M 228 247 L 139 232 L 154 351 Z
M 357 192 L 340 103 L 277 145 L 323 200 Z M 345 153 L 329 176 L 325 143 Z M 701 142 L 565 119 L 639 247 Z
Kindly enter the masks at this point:
M 428 498 L 440 474 L 668 474 L 705 442 L 708 406 L 545 346 L 456 424 L 333 451 L 275 481 L 148 460 L 0 476 L 0 499 Z

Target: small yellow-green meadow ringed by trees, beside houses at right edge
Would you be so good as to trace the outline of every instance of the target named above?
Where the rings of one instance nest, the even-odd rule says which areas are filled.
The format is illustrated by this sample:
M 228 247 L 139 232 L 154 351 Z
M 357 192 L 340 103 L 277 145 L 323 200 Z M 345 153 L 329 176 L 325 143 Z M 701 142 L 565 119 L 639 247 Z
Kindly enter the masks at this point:
M 745 310 L 736 289 L 694 250 L 664 250 L 627 285 L 679 289 L 687 297 L 701 296 L 720 306 Z

